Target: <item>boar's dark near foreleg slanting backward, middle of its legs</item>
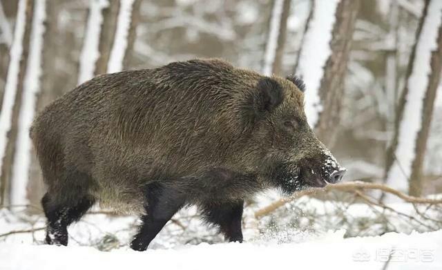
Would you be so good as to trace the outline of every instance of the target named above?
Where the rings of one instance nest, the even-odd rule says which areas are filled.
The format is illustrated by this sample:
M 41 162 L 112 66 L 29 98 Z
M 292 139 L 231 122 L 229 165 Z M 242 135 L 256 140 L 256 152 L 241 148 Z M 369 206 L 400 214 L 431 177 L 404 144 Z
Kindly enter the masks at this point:
M 146 186 L 145 198 L 146 215 L 142 216 L 140 230 L 131 242 L 131 248 L 136 251 L 146 250 L 148 244 L 186 201 L 184 193 L 158 183 Z

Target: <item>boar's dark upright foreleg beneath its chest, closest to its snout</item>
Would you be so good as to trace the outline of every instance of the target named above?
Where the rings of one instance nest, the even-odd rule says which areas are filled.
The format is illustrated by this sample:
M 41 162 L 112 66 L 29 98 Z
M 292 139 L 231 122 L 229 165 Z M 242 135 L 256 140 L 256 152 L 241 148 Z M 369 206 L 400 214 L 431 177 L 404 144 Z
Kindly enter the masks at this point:
M 242 242 L 241 218 L 244 201 L 204 206 L 205 220 L 220 226 L 229 242 Z

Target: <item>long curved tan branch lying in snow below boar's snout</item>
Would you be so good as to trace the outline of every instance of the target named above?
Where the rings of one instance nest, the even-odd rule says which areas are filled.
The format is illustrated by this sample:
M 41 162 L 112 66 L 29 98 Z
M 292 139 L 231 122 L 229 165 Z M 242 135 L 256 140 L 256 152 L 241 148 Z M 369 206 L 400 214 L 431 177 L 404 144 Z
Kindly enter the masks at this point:
M 311 195 L 314 193 L 318 193 L 321 191 L 346 191 L 346 192 L 355 192 L 358 191 L 358 189 L 372 189 L 372 190 L 378 190 L 383 191 L 385 193 L 390 193 L 392 195 L 396 195 L 397 197 L 400 197 L 405 202 L 411 202 L 415 204 L 442 204 L 442 200 L 433 200 L 433 199 L 427 199 L 425 197 L 413 197 L 410 195 L 406 195 L 404 193 L 401 193 L 401 191 L 397 191 L 396 189 L 392 189 L 390 186 L 387 186 L 385 184 L 376 184 L 376 183 L 367 183 L 367 182 L 346 182 L 346 183 L 340 183 L 340 184 L 330 184 L 326 186 L 324 189 L 307 189 L 305 191 L 299 191 L 295 193 L 294 195 L 291 195 L 287 198 L 282 198 L 276 202 L 273 202 L 272 204 L 265 206 L 264 208 L 258 210 L 255 212 L 256 218 L 261 218 L 262 216 L 269 215 L 269 213 L 275 211 L 280 206 L 283 206 L 284 204 L 287 204 L 287 202 L 291 202 L 293 200 L 296 200 L 298 197 L 302 197 L 305 195 Z

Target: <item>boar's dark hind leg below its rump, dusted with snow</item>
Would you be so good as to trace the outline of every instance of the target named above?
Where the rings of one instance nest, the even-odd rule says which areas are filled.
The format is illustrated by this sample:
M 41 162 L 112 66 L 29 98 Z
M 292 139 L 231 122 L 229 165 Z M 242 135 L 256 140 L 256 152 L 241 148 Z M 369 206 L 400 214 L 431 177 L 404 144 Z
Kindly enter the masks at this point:
M 85 196 L 76 204 L 57 202 L 49 193 L 41 199 L 44 213 L 48 219 L 46 228 L 46 244 L 68 244 L 68 226 L 81 218 L 93 206 L 95 200 Z

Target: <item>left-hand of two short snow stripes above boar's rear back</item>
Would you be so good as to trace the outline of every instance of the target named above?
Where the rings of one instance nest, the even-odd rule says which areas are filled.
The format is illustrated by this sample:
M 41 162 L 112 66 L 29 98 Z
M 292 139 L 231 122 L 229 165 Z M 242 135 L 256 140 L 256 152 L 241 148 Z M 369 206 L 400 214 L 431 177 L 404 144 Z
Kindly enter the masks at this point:
M 102 10 L 109 5 L 108 0 L 91 0 L 89 3 L 88 27 L 79 59 L 78 84 L 94 77 L 95 62 L 99 58 L 99 37 L 103 23 Z

